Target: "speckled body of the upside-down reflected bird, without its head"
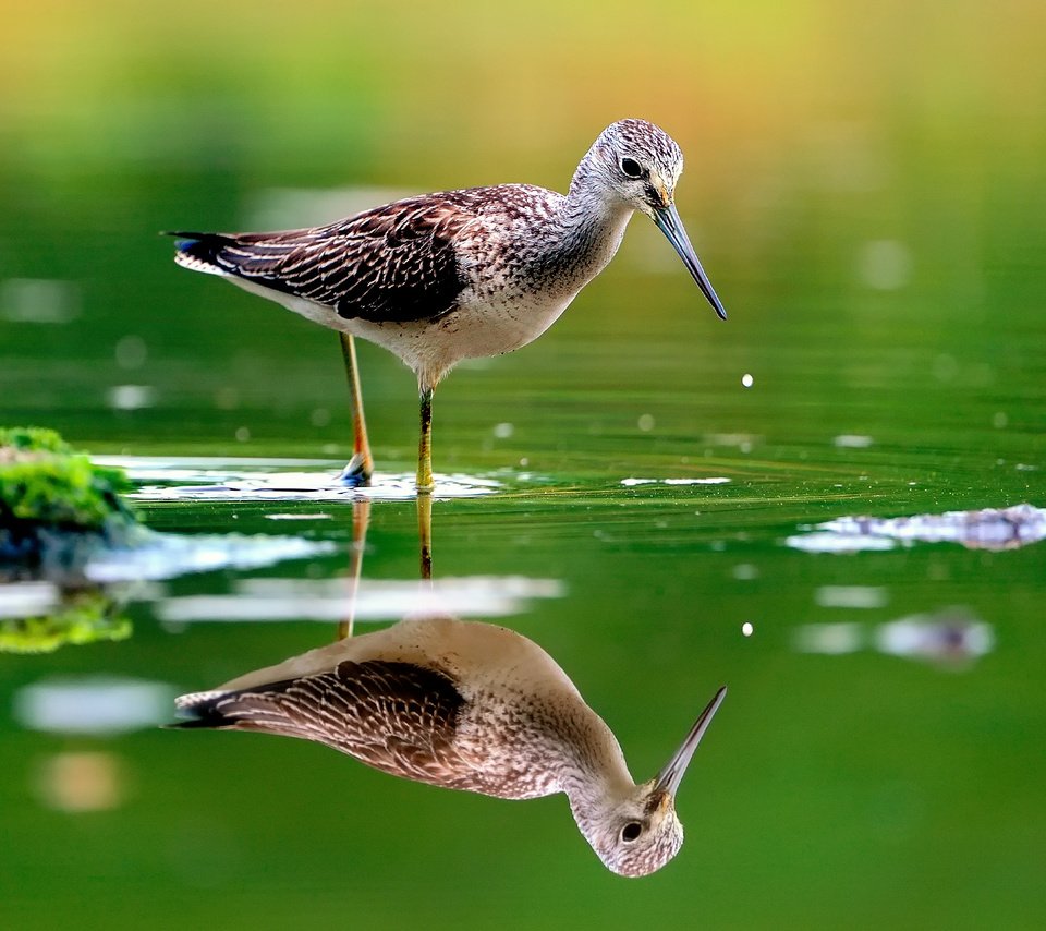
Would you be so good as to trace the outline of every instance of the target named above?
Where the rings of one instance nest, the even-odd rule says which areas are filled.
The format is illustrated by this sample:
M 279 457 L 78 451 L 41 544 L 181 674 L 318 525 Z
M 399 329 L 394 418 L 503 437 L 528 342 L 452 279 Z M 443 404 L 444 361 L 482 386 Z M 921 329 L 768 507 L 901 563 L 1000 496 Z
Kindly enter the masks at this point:
M 314 651 L 304 675 L 270 681 L 287 670 L 273 667 L 246 688 L 234 680 L 183 696 L 178 708 L 188 720 L 179 726 L 314 740 L 394 776 L 499 798 L 562 790 L 563 769 L 577 765 L 577 753 L 564 749 L 575 745 L 583 765 L 623 765 L 609 729 L 536 644 L 492 625 L 404 624 Z M 417 662 L 404 644 L 418 633 L 442 641 L 455 660 L 426 648 Z M 482 675 L 470 658 L 475 648 L 494 651 Z M 598 753 L 586 746 L 593 739 Z

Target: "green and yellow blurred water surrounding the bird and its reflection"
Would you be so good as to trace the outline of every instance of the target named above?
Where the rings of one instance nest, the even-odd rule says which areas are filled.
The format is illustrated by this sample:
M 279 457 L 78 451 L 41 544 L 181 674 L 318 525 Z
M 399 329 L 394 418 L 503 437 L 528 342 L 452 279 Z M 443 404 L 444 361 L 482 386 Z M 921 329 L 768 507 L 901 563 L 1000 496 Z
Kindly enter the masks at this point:
M 177 23 L 114 2 L 11 21 L 0 422 L 139 471 L 276 458 L 333 474 L 351 446 L 335 336 L 175 268 L 156 231 L 250 226 L 276 189 L 563 189 L 604 125 L 647 116 L 686 153 L 680 213 L 730 318 L 640 217 L 546 336 L 455 371 L 436 395 L 437 475 L 497 488 L 437 496 L 435 573 L 558 583 L 489 619 L 556 657 L 638 778 L 730 692 L 680 793 L 686 843 L 638 881 L 600 866 L 562 797 L 438 790 L 254 735 L 27 726 L 20 696 L 54 677 L 174 694 L 333 636 L 306 620 L 308 587 L 345 576 L 351 500 L 150 493 L 157 530 L 336 548 L 124 588 L 129 639 L 0 658 L 0 923 L 1042 927 L 1046 543 L 793 540 L 843 517 L 1046 507 L 1038 8 L 937 23 L 887 7 L 858 29 L 834 11 L 860 4 L 787 23 L 680 7 L 653 55 L 616 4 L 595 37 L 581 8 L 402 25 L 195 5 Z M 577 57 L 549 38 L 535 71 L 548 31 L 591 41 Z M 461 66 L 440 69 L 451 52 Z M 607 56 L 635 66 L 608 74 Z M 361 356 L 379 472 L 409 473 L 412 376 Z M 303 519 L 271 519 L 287 515 Z M 416 527 L 413 500 L 374 503 L 365 585 L 416 578 Z M 288 619 L 170 619 L 255 579 Z M 966 618 L 986 648 L 876 645 L 913 615 Z M 826 631 L 847 649 L 810 652 Z M 74 810 L 62 791 L 93 778 L 101 795 Z

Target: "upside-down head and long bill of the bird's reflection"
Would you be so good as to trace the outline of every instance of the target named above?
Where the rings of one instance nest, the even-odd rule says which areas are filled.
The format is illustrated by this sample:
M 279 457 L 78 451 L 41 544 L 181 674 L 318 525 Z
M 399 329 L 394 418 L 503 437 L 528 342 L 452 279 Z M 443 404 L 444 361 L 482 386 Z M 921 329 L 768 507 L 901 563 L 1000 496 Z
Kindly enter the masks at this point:
M 709 722 L 727 693 L 716 692 L 686 739 L 653 779 L 635 788 L 597 819 L 579 825 L 607 869 L 622 876 L 645 876 L 664 867 L 683 846 L 676 814 L 676 791 Z

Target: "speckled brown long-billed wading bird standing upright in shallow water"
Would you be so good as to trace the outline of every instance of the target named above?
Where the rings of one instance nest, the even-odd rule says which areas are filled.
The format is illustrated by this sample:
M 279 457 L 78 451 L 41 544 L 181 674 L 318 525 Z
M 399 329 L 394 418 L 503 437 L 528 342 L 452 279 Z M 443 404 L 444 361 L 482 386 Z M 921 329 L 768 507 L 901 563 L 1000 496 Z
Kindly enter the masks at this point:
M 399 356 L 417 377 L 416 488 L 434 488 L 433 392 L 459 362 L 537 339 L 610 262 L 638 210 L 679 254 L 727 318 L 674 204 L 683 155 L 646 120 L 607 126 L 565 195 L 533 184 L 424 194 L 327 226 L 280 232 L 172 232 L 175 262 L 218 275 L 338 330 L 349 375 L 353 457 L 342 473 L 374 470 L 354 337 Z

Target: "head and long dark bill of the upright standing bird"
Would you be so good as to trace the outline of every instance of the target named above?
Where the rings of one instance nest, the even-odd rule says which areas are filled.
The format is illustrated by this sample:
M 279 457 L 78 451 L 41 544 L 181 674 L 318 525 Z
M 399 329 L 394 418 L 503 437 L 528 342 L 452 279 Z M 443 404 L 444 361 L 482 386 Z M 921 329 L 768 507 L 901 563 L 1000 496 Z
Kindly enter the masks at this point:
M 676 183 L 683 171 L 683 153 L 668 133 L 646 120 L 619 120 L 607 126 L 589 153 L 605 196 L 646 214 L 672 244 L 715 312 L 727 318 L 701 267 L 676 209 Z

